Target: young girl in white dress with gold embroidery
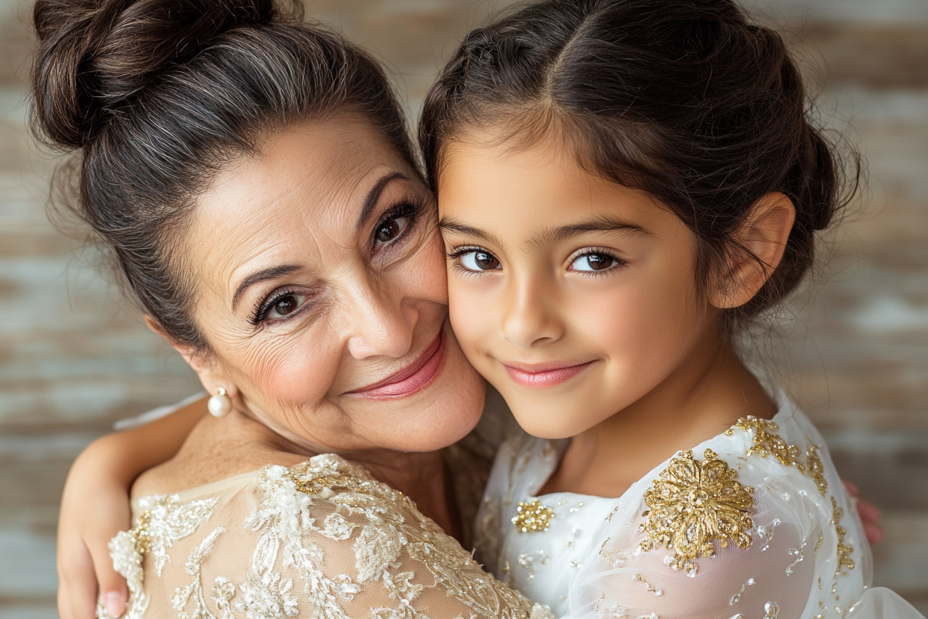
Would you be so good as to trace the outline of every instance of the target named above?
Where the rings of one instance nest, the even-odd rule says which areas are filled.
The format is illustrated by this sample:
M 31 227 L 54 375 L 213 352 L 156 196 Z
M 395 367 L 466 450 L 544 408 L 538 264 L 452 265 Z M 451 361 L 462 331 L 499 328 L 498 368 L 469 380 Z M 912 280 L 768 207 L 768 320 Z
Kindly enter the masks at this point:
M 532 435 L 479 550 L 559 615 L 921 616 L 868 588 L 821 436 L 732 343 L 842 204 L 808 102 L 730 0 L 529 6 L 427 99 L 452 324 Z

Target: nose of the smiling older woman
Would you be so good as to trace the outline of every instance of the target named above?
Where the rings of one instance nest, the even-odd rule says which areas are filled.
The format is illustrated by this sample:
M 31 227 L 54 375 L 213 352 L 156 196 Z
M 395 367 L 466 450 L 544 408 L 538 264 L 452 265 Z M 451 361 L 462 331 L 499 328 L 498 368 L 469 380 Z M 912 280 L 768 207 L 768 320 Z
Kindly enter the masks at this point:
M 419 316 L 415 307 L 375 287 L 354 290 L 350 296 L 342 316 L 350 333 L 348 353 L 355 359 L 406 355 Z

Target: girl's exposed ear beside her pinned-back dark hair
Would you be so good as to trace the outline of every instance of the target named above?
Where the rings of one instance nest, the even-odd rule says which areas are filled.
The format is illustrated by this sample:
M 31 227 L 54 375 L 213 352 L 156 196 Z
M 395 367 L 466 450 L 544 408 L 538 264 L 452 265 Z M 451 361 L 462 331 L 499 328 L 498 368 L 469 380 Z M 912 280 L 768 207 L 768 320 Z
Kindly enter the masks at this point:
M 714 287 L 715 307 L 741 307 L 754 298 L 780 264 L 795 218 L 793 200 L 779 191 L 754 202 L 733 239 L 740 250 L 729 257 L 727 271 Z

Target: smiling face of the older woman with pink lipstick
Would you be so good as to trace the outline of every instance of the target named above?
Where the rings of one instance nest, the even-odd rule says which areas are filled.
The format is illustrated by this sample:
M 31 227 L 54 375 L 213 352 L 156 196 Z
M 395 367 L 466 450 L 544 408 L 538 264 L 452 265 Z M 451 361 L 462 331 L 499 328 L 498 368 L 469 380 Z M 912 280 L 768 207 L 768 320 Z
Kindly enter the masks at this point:
M 426 451 L 483 381 L 447 320 L 432 194 L 361 117 L 298 123 L 200 196 L 185 243 L 204 386 L 310 449 Z

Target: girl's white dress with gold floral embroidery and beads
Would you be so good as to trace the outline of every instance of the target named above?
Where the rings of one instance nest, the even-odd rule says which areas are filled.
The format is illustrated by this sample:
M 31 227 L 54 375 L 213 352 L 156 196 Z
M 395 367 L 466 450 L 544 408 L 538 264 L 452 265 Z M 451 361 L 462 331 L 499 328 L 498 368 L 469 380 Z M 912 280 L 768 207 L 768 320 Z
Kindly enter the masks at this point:
M 821 436 L 782 393 L 679 452 L 623 496 L 537 496 L 566 441 L 517 434 L 496 455 L 478 558 L 572 619 L 916 619 L 870 588 L 870 548 Z M 923 618 L 922 618 L 923 619 Z

